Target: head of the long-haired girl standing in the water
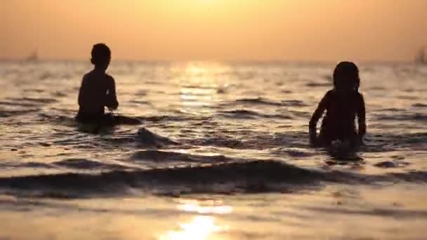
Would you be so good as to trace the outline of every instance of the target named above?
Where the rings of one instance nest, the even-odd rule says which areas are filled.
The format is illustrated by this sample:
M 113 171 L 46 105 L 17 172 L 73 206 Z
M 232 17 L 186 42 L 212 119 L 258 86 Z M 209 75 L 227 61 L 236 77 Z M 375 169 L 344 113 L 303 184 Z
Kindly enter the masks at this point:
M 354 62 L 340 62 L 334 70 L 334 88 L 338 91 L 358 91 L 359 69 Z

